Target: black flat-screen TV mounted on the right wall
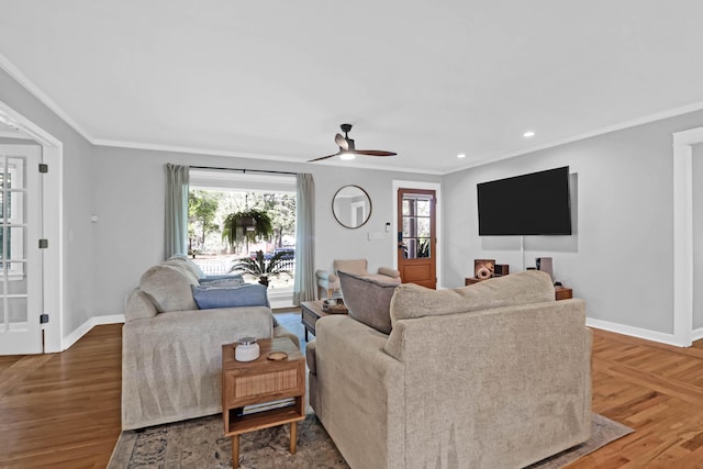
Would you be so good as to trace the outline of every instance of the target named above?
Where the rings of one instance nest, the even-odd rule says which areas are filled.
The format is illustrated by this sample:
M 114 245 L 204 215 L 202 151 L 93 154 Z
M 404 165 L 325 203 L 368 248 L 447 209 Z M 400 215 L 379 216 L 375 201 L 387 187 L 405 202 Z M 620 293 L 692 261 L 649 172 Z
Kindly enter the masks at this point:
M 570 235 L 569 167 L 477 185 L 479 236 Z

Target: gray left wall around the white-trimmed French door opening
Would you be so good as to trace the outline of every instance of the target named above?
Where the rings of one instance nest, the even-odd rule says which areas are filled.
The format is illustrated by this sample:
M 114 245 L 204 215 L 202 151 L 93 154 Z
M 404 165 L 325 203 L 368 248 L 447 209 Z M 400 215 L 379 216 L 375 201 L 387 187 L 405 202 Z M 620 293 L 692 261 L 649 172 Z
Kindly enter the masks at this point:
M 0 101 L 64 144 L 64 306 L 62 334 L 68 335 L 96 314 L 93 297 L 92 145 L 18 81 L 0 69 Z M 58 197 L 58 194 L 56 194 Z M 49 239 L 51 243 L 51 239 Z M 57 281 L 57 279 L 55 280 Z M 49 314 L 54 311 L 47 311 Z

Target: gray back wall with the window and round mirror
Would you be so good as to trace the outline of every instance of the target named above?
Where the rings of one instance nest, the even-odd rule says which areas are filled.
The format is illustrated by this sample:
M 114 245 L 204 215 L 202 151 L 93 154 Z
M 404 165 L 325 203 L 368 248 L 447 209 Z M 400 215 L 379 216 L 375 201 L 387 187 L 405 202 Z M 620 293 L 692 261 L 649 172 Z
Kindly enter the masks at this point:
M 92 256 L 96 315 L 121 314 L 123 298 L 142 273 L 164 256 L 165 165 L 197 165 L 311 172 L 315 180 L 315 269 L 331 269 L 335 258 L 366 257 L 370 268 L 393 263 L 393 238 L 384 232 L 392 222 L 393 179 L 438 181 L 439 177 L 372 171 L 335 166 L 281 164 L 231 157 L 96 147 L 94 206 L 98 222 Z M 332 198 L 345 185 L 362 187 L 371 198 L 369 222 L 360 228 L 341 226 L 332 213 Z M 369 241 L 369 232 L 383 239 Z

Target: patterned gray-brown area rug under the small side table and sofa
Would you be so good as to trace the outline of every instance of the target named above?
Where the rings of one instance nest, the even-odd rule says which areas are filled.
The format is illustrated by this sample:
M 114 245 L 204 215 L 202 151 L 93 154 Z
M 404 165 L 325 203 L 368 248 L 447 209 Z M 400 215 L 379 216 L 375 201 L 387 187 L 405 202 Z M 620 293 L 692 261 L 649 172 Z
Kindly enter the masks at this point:
M 529 469 L 557 469 L 633 432 L 624 425 L 593 414 L 591 439 Z M 247 433 L 239 438 L 239 467 L 348 468 L 334 443 L 314 414 L 298 424 L 298 453 L 288 451 L 289 425 Z M 231 438 L 223 436 L 221 415 L 122 432 L 110 458 L 109 469 L 232 467 Z

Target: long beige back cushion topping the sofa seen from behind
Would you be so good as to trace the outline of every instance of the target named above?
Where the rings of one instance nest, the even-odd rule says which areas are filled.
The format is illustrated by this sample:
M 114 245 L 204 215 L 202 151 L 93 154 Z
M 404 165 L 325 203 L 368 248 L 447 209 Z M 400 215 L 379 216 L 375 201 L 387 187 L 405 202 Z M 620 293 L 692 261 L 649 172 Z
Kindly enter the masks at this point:
M 551 277 L 539 270 L 493 278 L 469 287 L 432 290 L 414 283 L 398 287 L 391 321 L 464 313 L 515 304 L 555 301 Z

